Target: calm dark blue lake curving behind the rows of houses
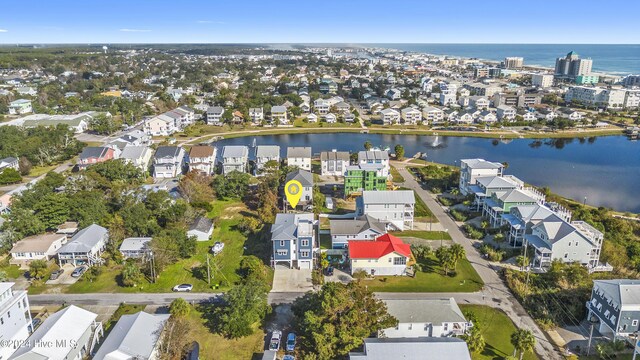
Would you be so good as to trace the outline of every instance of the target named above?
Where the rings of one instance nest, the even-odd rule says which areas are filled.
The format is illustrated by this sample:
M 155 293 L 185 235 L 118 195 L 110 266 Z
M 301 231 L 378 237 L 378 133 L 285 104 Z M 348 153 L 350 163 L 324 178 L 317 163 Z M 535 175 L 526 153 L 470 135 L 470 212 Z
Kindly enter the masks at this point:
M 251 146 L 253 137 L 225 139 L 215 143 Z M 431 161 L 460 165 L 460 159 L 484 158 L 508 162 L 507 174 L 553 192 L 595 206 L 640 213 L 640 141 L 624 136 L 589 139 L 498 140 L 470 137 L 434 137 L 385 134 L 289 134 L 256 137 L 257 145 L 311 146 L 314 154 L 337 149 L 363 150 L 365 141 L 393 149 L 402 144 L 407 156 L 426 152 Z M 221 151 L 218 152 L 219 154 Z M 254 150 L 250 151 L 253 156 Z

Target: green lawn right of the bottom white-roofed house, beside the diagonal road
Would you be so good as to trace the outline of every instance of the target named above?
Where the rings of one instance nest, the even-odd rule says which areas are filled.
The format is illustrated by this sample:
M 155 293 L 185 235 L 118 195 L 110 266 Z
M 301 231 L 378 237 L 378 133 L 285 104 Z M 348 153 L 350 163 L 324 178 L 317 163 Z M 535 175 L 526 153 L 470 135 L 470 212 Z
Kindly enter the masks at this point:
M 495 360 L 513 355 L 511 334 L 516 331 L 516 326 L 502 310 L 484 305 L 464 304 L 460 304 L 460 309 L 465 314 L 474 313 L 486 343 L 482 353 L 471 354 L 473 360 Z M 535 360 L 538 359 L 538 356 L 534 353 L 527 353 L 524 359 Z

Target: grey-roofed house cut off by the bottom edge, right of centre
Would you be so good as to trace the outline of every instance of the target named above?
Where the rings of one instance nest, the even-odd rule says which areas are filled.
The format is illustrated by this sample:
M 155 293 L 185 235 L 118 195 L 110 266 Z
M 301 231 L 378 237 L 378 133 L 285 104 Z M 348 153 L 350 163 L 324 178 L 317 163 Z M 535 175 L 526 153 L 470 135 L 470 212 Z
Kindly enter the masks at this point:
M 349 360 L 471 360 L 467 343 L 458 338 L 367 338 L 362 352 Z

